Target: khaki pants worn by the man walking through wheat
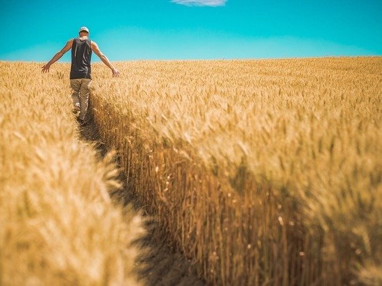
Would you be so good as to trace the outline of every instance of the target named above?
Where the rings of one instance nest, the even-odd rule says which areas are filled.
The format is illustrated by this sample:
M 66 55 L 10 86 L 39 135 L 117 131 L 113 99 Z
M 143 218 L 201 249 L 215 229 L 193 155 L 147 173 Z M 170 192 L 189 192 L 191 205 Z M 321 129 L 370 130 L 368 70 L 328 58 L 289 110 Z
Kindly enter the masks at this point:
M 86 111 L 88 110 L 88 101 L 90 94 L 90 84 L 92 80 L 90 78 L 76 78 L 70 80 L 70 87 L 72 87 L 72 100 L 73 105 L 76 107 L 76 103 L 80 103 L 80 116 L 79 119 L 85 119 Z

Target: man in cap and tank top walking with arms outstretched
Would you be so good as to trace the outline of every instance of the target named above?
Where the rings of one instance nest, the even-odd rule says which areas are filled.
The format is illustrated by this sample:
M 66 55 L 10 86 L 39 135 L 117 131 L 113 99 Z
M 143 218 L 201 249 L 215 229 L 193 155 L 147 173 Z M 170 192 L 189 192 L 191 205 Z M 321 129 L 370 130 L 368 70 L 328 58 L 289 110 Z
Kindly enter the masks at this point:
M 109 62 L 108 58 L 99 50 L 96 42 L 89 40 L 89 29 L 81 27 L 79 37 L 70 39 L 61 51 L 56 53 L 51 60 L 42 67 L 42 72 L 49 72 L 49 67 L 59 60 L 69 49 L 72 49 L 72 66 L 70 68 L 70 87 L 72 87 L 72 100 L 75 112 L 80 112 L 78 122 L 85 125 L 85 115 L 88 110 L 90 84 L 92 83 L 92 69 L 90 60 L 92 51 L 99 56 L 102 62 L 110 67 L 113 76 L 119 76 L 119 72 Z

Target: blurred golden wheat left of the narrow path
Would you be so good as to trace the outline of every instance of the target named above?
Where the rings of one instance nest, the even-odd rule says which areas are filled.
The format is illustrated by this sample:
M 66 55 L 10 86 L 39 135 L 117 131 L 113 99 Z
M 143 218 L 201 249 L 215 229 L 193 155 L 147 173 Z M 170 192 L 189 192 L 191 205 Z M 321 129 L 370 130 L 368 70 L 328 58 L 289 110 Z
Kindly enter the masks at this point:
M 138 285 L 140 216 L 110 201 L 117 170 L 78 140 L 69 81 L 0 62 L 0 284 Z

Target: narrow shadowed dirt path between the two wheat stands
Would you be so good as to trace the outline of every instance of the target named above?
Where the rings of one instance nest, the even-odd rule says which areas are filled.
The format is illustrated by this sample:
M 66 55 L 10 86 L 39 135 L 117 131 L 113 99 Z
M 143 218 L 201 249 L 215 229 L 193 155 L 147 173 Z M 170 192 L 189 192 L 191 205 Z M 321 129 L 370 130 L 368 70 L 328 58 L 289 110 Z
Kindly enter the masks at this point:
M 107 146 L 102 143 L 97 125 L 94 123 L 90 112 L 88 112 L 86 121 L 88 124 L 81 128 L 82 139 L 93 142 L 101 156 L 104 156 L 107 152 Z M 126 182 L 124 174 L 121 174 L 121 178 L 122 181 Z M 140 206 L 138 198 L 128 191 L 126 185 L 112 196 L 122 199 L 125 204 L 133 203 L 135 210 L 142 210 L 143 215 L 147 216 L 147 212 Z M 147 235 L 139 239 L 137 243 L 148 247 L 151 251 L 145 257 L 140 258 L 137 263 L 144 265 L 140 271 L 140 278 L 144 278 L 147 285 L 206 285 L 203 280 L 197 277 L 196 269 L 190 261 L 167 244 L 164 230 L 161 229 L 158 221 L 147 219 L 145 226 Z

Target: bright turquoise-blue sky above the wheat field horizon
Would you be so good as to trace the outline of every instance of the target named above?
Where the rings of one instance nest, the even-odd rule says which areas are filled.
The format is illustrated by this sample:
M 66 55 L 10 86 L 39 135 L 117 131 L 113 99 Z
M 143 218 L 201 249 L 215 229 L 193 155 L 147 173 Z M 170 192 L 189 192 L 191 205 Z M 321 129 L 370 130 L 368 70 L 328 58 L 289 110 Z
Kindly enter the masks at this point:
M 382 55 L 381 0 L 0 0 L 0 7 L 0 60 L 48 61 L 81 26 L 111 61 Z M 70 51 L 60 61 L 69 60 Z

